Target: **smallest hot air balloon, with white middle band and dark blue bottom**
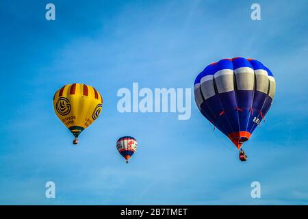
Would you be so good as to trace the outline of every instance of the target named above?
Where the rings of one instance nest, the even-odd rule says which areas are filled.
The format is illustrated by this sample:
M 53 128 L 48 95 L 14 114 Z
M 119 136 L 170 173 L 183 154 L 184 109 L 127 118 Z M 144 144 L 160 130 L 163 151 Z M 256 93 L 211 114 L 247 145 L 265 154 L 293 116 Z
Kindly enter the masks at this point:
M 124 136 L 116 142 L 116 149 L 126 159 L 128 164 L 129 158 L 137 151 L 137 140 L 131 136 Z

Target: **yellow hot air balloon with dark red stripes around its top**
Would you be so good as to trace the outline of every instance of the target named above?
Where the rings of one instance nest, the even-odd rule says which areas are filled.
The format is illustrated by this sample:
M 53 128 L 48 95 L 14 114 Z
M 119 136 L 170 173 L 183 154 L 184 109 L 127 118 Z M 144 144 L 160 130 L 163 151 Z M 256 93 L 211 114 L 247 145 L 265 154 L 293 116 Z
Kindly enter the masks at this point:
M 101 94 L 82 83 L 68 84 L 53 96 L 55 114 L 75 136 L 73 144 L 78 143 L 81 131 L 99 117 L 102 105 Z

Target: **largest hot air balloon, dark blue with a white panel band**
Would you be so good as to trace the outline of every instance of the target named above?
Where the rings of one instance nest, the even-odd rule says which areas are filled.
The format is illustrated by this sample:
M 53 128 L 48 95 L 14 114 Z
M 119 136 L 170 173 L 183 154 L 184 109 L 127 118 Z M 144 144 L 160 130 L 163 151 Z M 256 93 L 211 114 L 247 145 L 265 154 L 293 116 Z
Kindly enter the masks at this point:
M 201 114 L 240 150 L 265 120 L 275 94 L 272 72 L 243 57 L 209 64 L 194 81 L 194 99 Z

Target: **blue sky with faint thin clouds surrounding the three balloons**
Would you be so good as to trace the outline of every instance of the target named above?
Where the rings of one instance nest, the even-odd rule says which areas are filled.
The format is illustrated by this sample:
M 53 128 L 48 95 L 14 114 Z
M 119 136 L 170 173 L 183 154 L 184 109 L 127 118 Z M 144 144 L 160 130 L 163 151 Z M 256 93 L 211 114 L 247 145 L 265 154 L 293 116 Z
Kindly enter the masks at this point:
M 307 1 L 1 1 L 0 204 L 308 204 Z M 251 20 L 260 3 L 261 21 Z M 192 96 L 177 114 L 120 114 L 120 88 L 192 88 L 207 64 L 252 57 L 277 94 L 238 161 Z M 67 83 L 101 92 L 99 119 L 78 147 L 53 112 Z M 134 136 L 129 164 L 116 151 Z M 54 181 L 56 198 L 45 198 Z M 261 198 L 251 198 L 251 182 Z

